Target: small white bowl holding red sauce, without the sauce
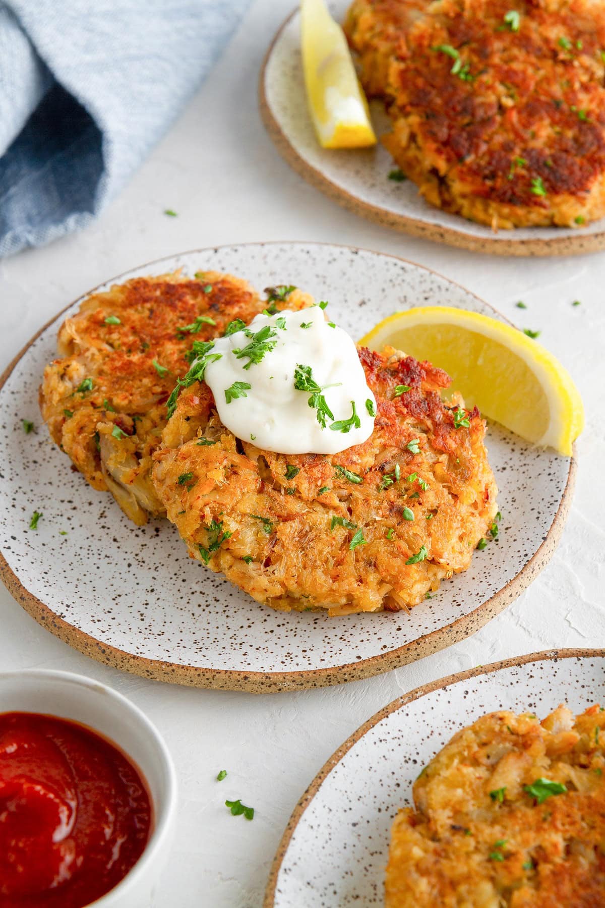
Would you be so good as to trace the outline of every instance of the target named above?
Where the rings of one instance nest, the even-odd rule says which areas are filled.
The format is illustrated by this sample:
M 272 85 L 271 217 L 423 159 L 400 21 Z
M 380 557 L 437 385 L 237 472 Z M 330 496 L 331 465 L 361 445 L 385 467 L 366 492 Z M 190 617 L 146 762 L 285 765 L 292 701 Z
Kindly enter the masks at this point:
M 139 767 L 151 793 L 153 829 L 132 870 L 94 908 L 150 908 L 176 824 L 177 782 L 168 748 L 150 720 L 122 694 L 70 672 L 0 672 L 0 713 L 45 713 L 88 725 Z

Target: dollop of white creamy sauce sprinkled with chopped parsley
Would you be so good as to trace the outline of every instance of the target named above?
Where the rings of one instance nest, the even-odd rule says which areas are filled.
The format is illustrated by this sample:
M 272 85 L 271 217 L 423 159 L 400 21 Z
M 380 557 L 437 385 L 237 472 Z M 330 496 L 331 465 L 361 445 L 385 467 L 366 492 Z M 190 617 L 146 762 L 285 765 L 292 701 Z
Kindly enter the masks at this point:
M 271 333 L 258 339 L 267 327 Z M 249 345 L 258 362 L 238 356 Z M 330 327 L 319 306 L 257 315 L 246 331 L 214 341 L 210 352 L 220 359 L 208 363 L 204 378 L 221 421 L 239 439 L 280 454 L 337 454 L 372 434 L 369 411 L 376 413 L 376 400 L 355 343 L 346 331 Z M 330 428 L 338 422 L 345 425 Z

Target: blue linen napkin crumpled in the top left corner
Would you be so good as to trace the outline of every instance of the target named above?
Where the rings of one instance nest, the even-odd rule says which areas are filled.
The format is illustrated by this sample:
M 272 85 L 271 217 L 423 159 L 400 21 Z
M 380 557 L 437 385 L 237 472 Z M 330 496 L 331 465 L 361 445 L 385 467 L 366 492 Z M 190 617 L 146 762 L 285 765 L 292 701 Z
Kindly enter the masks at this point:
M 90 222 L 249 0 L 0 0 L 0 256 Z

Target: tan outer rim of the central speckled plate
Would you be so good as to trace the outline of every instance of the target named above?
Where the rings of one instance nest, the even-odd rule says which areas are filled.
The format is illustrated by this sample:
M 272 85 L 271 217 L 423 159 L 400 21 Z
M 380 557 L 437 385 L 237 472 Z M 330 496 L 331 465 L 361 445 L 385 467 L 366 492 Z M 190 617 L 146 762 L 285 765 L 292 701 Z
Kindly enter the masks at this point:
M 224 243 L 217 246 L 206 246 L 201 249 L 192 249 L 187 252 L 175 252 L 169 256 L 162 256 L 160 259 L 154 259 L 151 262 L 145 262 L 134 268 L 122 271 L 121 274 L 109 278 L 107 281 L 97 284 L 92 290 L 82 293 L 75 300 L 69 302 L 62 310 L 56 313 L 51 319 L 46 321 L 42 328 L 35 332 L 30 341 L 27 341 L 13 360 L 9 362 L 5 370 L 0 374 L 0 394 L 4 390 L 5 383 L 9 379 L 15 366 L 23 359 L 25 354 L 30 350 L 38 338 L 49 328 L 54 321 L 57 321 L 64 312 L 71 309 L 76 303 L 85 300 L 88 296 L 98 291 L 99 288 L 112 284 L 116 281 L 127 279 L 127 275 L 132 271 L 141 271 L 144 268 L 151 268 L 167 260 L 174 260 L 187 255 L 201 255 L 216 250 L 233 249 L 241 246 L 321 246 L 328 248 L 346 249 L 351 252 L 369 252 L 372 255 L 395 259 L 414 268 L 428 271 L 437 278 L 448 281 L 454 286 L 459 287 L 465 293 L 474 297 L 482 305 L 501 316 L 505 321 L 510 322 L 502 312 L 497 310 L 491 303 L 484 301 L 473 291 L 467 290 L 463 284 L 452 281 L 445 277 L 439 271 L 427 268 L 425 265 L 405 259 L 403 256 L 395 255 L 392 252 L 377 252 L 376 250 L 366 249 L 360 246 L 354 246 L 346 243 L 333 242 L 307 242 L 307 241 L 267 241 L 267 242 L 241 242 L 241 243 Z M 577 451 L 576 445 L 573 444 L 573 453 L 569 459 L 569 471 L 565 489 L 561 495 L 559 507 L 552 518 L 551 526 L 542 543 L 527 561 L 518 574 L 512 577 L 507 584 L 493 593 L 493 596 L 486 599 L 473 611 L 466 615 L 456 618 L 450 624 L 444 627 L 435 628 L 422 637 L 389 650 L 386 653 L 378 653 L 376 656 L 362 659 L 359 662 L 349 662 L 341 666 L 327 666 L 324 668 L 300 669 L 297 671 L 285 672 L 259 672 L 245 671 L 243 669 L 230 668 L 204 668 L 199 666 L 179 665 L 167 662 L 162 659 L 152 659 L 148 656 L 139 656 L 134 653 L 128 653 L 117 646 L 103 643 L 102 640 L 96 639 L 91 634 L 86 633 L 78 627 L 74 627 L 64 618 L 54 613 L 51 607 L 47 606 L 41 599 L 34 596 L 27 587 L 16 576 L 15 571 L 9 566 L 4 552 L 0 549 L 0 580 L 4 583 L 9 593 L 15 598 L 24 611 L 46 630 L 63 640 L 63 643 L 72 646 L 74 649 L 89 656 L 103 665 L 112 666 L 120 671 L 129 672 L 132 675 L 151 678 L 156 681 L 163 681 L 169 684 L 179 684 L 183 686 L 205 687 L 215 690 L 238 690 L 246 691 L 252 694 L 281 693 L 294 690 L 308 689 L 311 687 L 326 687 L 339 684 L 346 684 L 349 681 L 357 681 L 363 678 L 381 675 L 385 672 L 392 671 L 395 668 L 404 666 L 416 659 L 430 656 L 446 646 L 452 646 L 466 637 L 473 636 L 481 627 L 486 625 L 493 617 L 504 610 L 522 592 L 530 586 L 535 577 L 545 568 L 551 559 L 554 549 L 559 544 L 561 533 L 570 512 L 571 499 L 575 486 L 577 472 Z

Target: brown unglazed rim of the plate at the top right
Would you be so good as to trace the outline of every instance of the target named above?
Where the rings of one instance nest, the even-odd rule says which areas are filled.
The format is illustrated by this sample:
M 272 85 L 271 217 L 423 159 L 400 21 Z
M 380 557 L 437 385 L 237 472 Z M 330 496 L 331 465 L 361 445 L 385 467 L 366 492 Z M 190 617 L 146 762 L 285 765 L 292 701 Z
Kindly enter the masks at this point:
M 342 205 L 348 211 L 353 212 L 359 217 L 366 218 L 380 224 L 382 227 L 388 227 L 391 230 L 407 233 L 410 236 L 420 237 L 423 240 L 432 242 L 441 242 L 447 246 L 454 246 L 457 249 L 466 249 L 470 252 L 483 252 L 492 255 L 514 255 L 519 257 L 553 257 L 565 255 L 583 255 L 589 252 L 600 252 L 605 249 L 605 229 L 599 233 L 582 233 L 578 232 L 571 236 L 552 237 L 549 240 L 529 239 L 514 240 L 503 239 L 495 240 L 489 235 L 485 237 L 476 237 L 470 233 L 464 233 L 462 230 L 456 230 L 454 227 L 446 227 L 440 224 L 432 224 L 423 221 L 420 218 L 410 217 L 405 214 L 390 212 L 380 205 L 372 202 L 365 202 L 359 199 L 352 192 L 343 189 L 337 183 L 330 180 L 313 164 L 308 163 L 305 158 L 298 153 L 297 148 L 290 142 L 286 133 L 282 130 L 277 116 L 273 113 L 271 105 L 268 102 L 266 91 L 267 69 L 273 51 L 281 38 L 282 33 L 288 27 L 295 15 L 298 15 L 298 7 L 284 19 L 279 25 L 278 31 L 273 35 L 267 52 L 265 53 L 259 70 L 259 114 L 260 119 L 268 132 L 269 138 L 281 154 L 282 158 L 289 166 L 298 173 L 304 180 L 319 192 L 323 192 L 333 202 Z M 464 221 L 464 219 L 461 218 Z M 605 220 L 605 219 L 604 219 Z M 489 228 L 485 228 L 486 231 Z M 514 234 L 512 231 L 506 233 Z

